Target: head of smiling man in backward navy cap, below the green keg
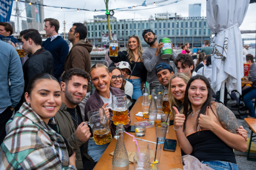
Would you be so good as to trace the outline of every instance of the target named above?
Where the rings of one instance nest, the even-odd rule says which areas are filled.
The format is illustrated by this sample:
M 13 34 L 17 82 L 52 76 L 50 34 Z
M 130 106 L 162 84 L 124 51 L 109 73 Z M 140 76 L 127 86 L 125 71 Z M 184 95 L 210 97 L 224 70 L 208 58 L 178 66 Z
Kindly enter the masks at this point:
M 160 63 L 155 68 L 155 75 L 157 75 L 161 85 L 169 88 L 170 79 L 174 75 L 174 72 L 169 64 Z

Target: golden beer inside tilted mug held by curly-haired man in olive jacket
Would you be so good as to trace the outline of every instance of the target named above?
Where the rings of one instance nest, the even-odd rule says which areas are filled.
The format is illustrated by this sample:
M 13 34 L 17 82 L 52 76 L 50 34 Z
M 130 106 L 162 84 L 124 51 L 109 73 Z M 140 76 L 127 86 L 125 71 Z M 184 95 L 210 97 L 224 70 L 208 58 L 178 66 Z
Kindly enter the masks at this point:
M 93 132 L 93 139 L 96 145 L 104 145 L 112 140 L 111 131 L 106 129 L 99 129 Z

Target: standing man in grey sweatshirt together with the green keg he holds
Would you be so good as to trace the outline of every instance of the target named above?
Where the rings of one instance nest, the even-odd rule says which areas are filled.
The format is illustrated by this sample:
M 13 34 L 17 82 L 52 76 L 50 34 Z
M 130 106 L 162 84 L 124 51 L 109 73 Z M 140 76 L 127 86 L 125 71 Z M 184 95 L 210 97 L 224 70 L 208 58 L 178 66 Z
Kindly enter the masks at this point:
M 142 59 L 147 69 L 147 82 L 150 84 L 150 89 L 153 89 L 158 82 L 158 78 L 155 75 L 155 68 L 160 63 L 166 63 L 170 65 L 170 60 L 175 61 L 177 54 L 171 50 L 170 39 L 162 38 L 160 43 L 157 42 L 157 35 L 151 29 L 145 29 L 142 33 L 144 41 L 149 44 L 149 48 L 143 51 Z M 161 48 L 163 48 L 161 49 Z M 161 51 L 160 51 L 161 49 Z M 165 51 L 168 51 L 167 53 Z M 161 57 L 159 53 L 161 52 Z M 169 54 L 168 54 L 169 53 Z M 172 53 L 172 54 L 170 54 Z M 157 81 L 153 84 L 153 82 Z

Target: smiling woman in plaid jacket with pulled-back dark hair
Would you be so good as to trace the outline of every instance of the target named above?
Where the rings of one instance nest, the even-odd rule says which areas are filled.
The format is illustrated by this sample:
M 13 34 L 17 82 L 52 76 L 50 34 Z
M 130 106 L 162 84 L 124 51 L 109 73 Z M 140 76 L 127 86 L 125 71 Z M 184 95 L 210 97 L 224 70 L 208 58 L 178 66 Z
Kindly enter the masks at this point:
M 47 73 L 35 75 L 28 82 L 25 99 L 6 124 L 0 169 L 76 170 L 75 153 L 69 158 L 64 139 L 50 128 L 57 126 L 53 117 L 61 106 L 57 79 Z

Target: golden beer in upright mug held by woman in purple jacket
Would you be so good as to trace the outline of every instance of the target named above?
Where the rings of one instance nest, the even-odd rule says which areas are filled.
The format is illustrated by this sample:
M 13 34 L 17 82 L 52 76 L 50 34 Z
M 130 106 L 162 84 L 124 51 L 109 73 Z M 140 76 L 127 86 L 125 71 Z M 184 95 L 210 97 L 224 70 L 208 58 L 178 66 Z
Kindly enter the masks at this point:
M 115 108 L 113 110 L 113 123 L 114 125 L 117 124 L 129 124 L 129 120 L 128 120 L 128 110 L 121 110 L 119 108 Z

